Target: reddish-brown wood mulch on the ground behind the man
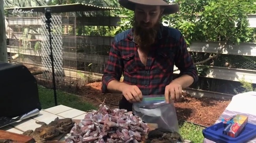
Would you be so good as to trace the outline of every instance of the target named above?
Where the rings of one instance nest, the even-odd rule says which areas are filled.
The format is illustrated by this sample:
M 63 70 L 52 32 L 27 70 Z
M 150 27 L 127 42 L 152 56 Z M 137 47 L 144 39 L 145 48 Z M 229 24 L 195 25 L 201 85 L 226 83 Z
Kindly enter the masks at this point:
M 94 105 L 99 105 L 104 99 L 111 108 L 117 108 L 121 99 L 120 94 L 103 94 L 101 82 L 84 85 L 79 90 L 79 95 L 90 98 Z M 226 109 L 230 100 L 217 100 L 214 98 L 194 98 L 183 93 L 179 102 L 175 103 L 178 119 L 191 121 L 193 123 L 210 126 L 215 123 L 222 112 Z

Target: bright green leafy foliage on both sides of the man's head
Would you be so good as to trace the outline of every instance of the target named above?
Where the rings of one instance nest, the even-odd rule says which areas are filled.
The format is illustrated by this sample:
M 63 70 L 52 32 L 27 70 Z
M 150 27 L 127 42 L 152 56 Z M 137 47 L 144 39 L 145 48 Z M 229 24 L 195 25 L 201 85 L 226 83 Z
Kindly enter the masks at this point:
M 256 0 L 175 0 L 180 11 L 163 16 L 170 26 L 179 29 L 187 44 L 191 41 L 222 41 L 232 44 L 251 42 L 253 29 L 247 14 L 256 12 Z M 127 18 L 122 18 L 118 32 L 131 27 L 133 12 L 121 10 Z M 124 22 L 125 21 L 125 22 Z M 127 22 L 128 21 L 128 22 Z

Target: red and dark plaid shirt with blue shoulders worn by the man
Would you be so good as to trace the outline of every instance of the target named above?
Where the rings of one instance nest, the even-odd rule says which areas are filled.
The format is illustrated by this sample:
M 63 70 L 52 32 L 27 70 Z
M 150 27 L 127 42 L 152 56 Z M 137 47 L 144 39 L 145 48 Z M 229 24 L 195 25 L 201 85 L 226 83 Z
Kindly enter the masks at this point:
M 140 61 L 133 30 L 117 34 L 111 45 L 109 58 L 102 77 L 102 92 L 107 93 L 107 85 L 112 80 L 137 85 L 142 95 L 164 94 L 166 85 L 172 81 L 174 64 L 180 76 L 187 74 L 198 81 L 197 70 L 187 51 L 186 42 L 180 31 L 161 25 L 156 44 L 149 51 L 146 66 Z

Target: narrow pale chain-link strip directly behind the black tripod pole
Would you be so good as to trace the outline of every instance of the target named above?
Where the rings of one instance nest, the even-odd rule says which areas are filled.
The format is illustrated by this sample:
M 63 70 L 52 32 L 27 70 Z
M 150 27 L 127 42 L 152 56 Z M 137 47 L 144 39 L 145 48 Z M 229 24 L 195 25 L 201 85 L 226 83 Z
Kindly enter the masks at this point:
M 41 47 L 41 62 L 45 69 L 44 76 L 46 80 L 52 79 L 52 62 L 51 62 L 51 51 L 50 51 L 50 40 L 49 40 L 49 29 L 46 28 L 45 16 L 41 16 L 41 35 L 42 35 L 42 47 Z M 63 53 L 62 53 L 62 16 L 52 15 L 51 18 L 51 37 L 52 37 L 52 56 L 54 63 L 54 73 L 57 80 L 63 80 L 64 69 L 63 69 Z M 50 73 L 50 74 L 49 74 Z

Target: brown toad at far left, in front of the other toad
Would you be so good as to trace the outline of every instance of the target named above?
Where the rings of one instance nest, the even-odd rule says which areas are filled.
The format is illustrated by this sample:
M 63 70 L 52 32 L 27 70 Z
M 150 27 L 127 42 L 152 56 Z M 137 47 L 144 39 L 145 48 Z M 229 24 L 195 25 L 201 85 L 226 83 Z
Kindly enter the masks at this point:
M 23 135 L 32 137 L 37 143 L 45 143 L 47 140 L 58 136 L 60 131 L 54 126 L 42 126 L 33 130 L 23 132 Z

